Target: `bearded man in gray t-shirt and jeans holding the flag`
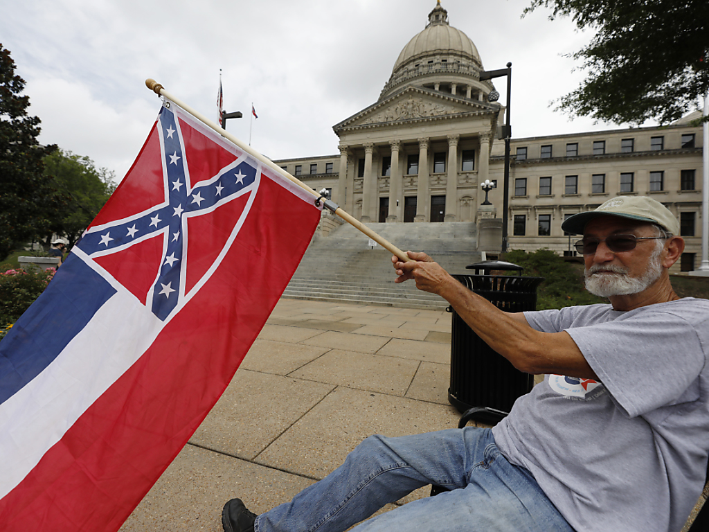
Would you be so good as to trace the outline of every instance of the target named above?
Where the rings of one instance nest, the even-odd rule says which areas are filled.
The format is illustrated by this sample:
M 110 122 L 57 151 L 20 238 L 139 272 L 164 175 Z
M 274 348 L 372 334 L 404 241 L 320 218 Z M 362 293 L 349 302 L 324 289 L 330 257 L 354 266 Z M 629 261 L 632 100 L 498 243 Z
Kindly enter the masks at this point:
M 609 305 L 506 314 L 424 253 L 392 259 L 396 282 L 440 294 L 519 370 L 547 374 L 506 419 L 372 436 L 265 514 L 232 499 L 225 531 L 344 531 L 431 483 L 452 491 L 357 531 L 679 531 L 709 452 L 709 301 L 671 287 L 679 223 L 653 199 L 623 196 L 562 228 L 583 233 L 586 287 Z

